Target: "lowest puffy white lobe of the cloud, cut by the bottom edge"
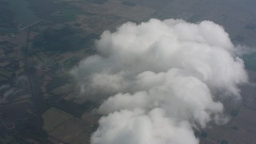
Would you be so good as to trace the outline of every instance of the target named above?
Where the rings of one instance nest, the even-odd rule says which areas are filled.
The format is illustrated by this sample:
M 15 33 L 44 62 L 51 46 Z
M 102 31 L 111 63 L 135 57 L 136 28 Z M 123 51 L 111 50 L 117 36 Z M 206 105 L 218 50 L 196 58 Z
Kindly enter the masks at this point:
M 148 114 L 143 110 L 122 110 L 101 118 L 99 123 L 92 143 L 198 143 L 188 122 L 174 122 L 161 109 Z

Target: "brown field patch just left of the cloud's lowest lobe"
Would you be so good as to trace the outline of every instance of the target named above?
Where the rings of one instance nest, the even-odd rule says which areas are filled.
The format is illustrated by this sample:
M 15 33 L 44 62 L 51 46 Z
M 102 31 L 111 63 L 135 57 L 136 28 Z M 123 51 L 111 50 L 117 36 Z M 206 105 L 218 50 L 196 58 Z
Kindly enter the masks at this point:
M 83 118 L 74 118 L 72 115 L 51 107 L 42 114 L 43 130 L 49 134 L 52 142 L 88 142 L 90 131 L 94 130 L 96 121 L 92 114 L 86 114 Z

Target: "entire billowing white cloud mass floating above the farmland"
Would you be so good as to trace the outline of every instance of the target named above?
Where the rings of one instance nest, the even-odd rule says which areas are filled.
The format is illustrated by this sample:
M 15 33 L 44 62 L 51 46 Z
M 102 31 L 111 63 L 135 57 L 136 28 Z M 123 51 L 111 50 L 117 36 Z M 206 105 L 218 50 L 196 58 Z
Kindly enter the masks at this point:
M 106 115 L 92 144 L 198 143 L 193 129 L 226 122 L 222 99 L 239 99 L 247 82 L 237 47 L 210 21 L 127 22 L 96 47 L 70 72 Z

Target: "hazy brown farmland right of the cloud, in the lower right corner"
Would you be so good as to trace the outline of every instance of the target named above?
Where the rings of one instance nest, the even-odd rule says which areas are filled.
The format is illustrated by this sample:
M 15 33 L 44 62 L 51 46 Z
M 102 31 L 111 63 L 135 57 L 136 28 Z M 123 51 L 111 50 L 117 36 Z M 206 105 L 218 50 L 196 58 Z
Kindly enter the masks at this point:
M 250 81 L 254 81 L 256 74 L 253 71 L 248 71 L 250 75 Z M 227 123 L 225 126 L 212 126 L 207 128 L 207 138 L 202 138 L 201 144 L 208 143 L 221 143 L 222 140 L 226 140 L 229 144 L 254 144 L 256 139 L 256 102 L 255 98 L 255 86 L 254 84 L 241 86 L 242 103 L 238 104 L 238 115 Z M 233 104 L 234 105 L 234 104 Z M 239 109 L 239 107 L 241 107 Z M 234 108 L 234 107 L 233 107 Z M 232 110 L 232 107 L 227 107 L 228 111 Z M 234 126 L 238 129 L 234 129 Z M 233 127 L 233 129 L 232 129 Z M 207 140 L 208 139 L 208 140 Z M 210 141 L 214 142 L 210 142 Z

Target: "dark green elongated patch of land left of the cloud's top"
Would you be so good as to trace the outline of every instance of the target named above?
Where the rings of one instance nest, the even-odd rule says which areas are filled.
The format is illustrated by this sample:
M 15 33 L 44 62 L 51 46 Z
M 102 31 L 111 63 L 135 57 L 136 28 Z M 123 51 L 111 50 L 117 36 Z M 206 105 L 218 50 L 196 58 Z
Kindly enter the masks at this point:
M 95 38 L 98 38 L 97 34 L 84 34 L 80 29 L 65 26 L 44 30 L 33 39 L 33 45 L 42 50 L 65 53 L 91 46 Z

